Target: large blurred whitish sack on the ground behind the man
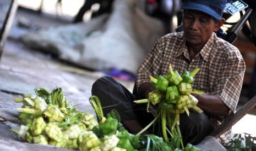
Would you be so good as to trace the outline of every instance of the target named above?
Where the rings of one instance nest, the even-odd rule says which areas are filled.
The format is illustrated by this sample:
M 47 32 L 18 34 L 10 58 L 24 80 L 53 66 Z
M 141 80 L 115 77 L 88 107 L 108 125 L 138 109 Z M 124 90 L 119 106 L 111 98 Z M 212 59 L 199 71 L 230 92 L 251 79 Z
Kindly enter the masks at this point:
M 116 67 L 136 73 L 156 39 L 164 34 L 163 23 L 146 15 L 135 1 L 117 0 L 111 14 L 30 32 L 21 40 L 79 66 L 95 70 Z

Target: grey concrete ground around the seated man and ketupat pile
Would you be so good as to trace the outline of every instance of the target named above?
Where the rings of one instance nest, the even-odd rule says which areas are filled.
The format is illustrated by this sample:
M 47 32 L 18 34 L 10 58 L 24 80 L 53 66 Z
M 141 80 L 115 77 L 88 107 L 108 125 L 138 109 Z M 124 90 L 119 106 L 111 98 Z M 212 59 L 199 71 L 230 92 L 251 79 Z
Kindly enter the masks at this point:
M 2 2 L 2 1 L 1 1 Z M 0 3 L 1 3 L 0 2 Z M 1 10 L 1 9 L 0 9 Z M 34 88 L 40 86 L 51 90 L 56 86 L 64 90 L 69 101 L 79 104 L 77 108 L 81 111 L 93 113 L 88 98 L 91 96 L 91 86 L 102 74 L 92 72 L 84 68 L 72 66 L 66 62 L 56 59 L 51 54 L 45 54 L 37 50 L 26 48 L 19 42 L 19 36 L 29 30 L 36 28 L 70 24 L 70 18 L 56 18 L 52 14 L 36 14 L 31 11 L 19 9 L 7 43 L 3 49 L 0 59 L 0 108 L 15 109 L 20 107 L 13 101 L 15 97 L 22 94 L 34 94 Z M 21 27 L 22 23 L 23 27 Z M 28 25 L 28 26 L 25 26 Z M 133 82 L 119 80 L 124 86 L 132 91 Z M 246 90 L 243 89 L 238 108 L 248 98 Z M 233 133 L 250 133 L 256 136 L 253 127 L 256 126 L 255 109 L 233 126 Z M 45 149 L 0 137 L 1 150 L 30 150 L 29 148 Z M 38 147 L 38 148 L 37 148 Z M 47 150 L 58 150 L 58 148 L 47 148 Z

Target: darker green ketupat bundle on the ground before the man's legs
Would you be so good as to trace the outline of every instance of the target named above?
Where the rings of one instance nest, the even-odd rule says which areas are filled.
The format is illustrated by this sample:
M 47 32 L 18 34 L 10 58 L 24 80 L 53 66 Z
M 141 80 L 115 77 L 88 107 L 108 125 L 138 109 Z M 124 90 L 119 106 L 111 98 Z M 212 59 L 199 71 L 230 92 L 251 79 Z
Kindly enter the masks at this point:
M 165 142 L 162 137 L 156 135 L 133 135 L 129 133 L 120 123 L 120 117 L 118 112 L 114 109 L 104 117 L 102 107 L 99 98 L 97 96 L 91 96 L 89 98 L 92 107 L 94 108 L 97 119 L 100 121 L 100 125 L 96 125 L 93 131 L 99 138 L 116 136 L 117 144 L 115 148 L 121 150 L 194 150 L 199 151 L 192 144 L 187 144 L 186 148 L 181 148 L 181 137 L 173 137 L 169 142 Z M 103 121 L 103 122 L 102 122 Z M 142 131 L 141 131 L 142 132 Z M 102 149 L 102 148 L 100 148 Z

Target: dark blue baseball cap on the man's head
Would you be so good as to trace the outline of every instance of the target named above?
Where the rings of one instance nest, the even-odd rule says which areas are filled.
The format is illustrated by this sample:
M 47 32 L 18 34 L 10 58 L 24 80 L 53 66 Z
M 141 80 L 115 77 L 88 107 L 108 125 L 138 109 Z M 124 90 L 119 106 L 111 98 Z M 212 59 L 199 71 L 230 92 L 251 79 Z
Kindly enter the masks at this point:
M 219 20 L 222 17 L 227 0 L 184 0 L 181 9 L 203 11 Z

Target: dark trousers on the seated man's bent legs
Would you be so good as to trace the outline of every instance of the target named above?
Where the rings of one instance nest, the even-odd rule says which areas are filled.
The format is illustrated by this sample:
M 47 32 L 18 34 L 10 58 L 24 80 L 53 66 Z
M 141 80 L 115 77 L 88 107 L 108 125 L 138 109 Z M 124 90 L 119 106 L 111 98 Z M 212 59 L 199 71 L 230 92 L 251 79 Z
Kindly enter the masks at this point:
M 147 126 L 154 116 L 146 112 L 145 104 L 134 104 L 135 96 L 122 84 L 111 77 L 101 77 L 92 85 L 91 94 L 99 98 L 104 116 L 116 109 L 122 121 L 137 120 L 141 126 Z M 214 130 L 213 124 L 204 113 L 190 109 L 189 117 L 180 114 L 180 125 L 183 144 L 198 144 Z M 155 133 L 156 134 L 156 133 Z

